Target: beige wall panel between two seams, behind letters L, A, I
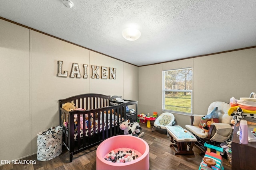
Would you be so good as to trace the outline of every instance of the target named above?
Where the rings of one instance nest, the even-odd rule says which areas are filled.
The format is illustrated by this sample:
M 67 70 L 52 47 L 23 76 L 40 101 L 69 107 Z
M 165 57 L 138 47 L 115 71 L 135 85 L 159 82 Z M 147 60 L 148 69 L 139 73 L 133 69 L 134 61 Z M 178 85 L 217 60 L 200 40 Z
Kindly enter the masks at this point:
M 78 63 L 81 76 L 83 64 L 89 64 L 89 50 L 30 30 L 32 153 L 37 152 L 37 133 L 59 125 L 58 100 L 90 93 L 90 79 L 70 78 L 72 63 Z M 58 61 L 63 61 L 58 77 Z M 89 74 L 90 75 L 90 74 Z M 44 123 L 42 123 L 44 122 Z

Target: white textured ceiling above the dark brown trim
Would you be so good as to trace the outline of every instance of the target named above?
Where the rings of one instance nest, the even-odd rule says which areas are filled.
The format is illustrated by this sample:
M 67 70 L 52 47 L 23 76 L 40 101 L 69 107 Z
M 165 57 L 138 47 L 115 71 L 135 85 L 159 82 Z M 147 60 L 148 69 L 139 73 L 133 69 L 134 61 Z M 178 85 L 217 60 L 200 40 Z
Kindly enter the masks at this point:
M 0 16 L 137 66 L 256 45 L 256 0 L 0 0 Z M 122 37 L 126 27 L 141 37 Z

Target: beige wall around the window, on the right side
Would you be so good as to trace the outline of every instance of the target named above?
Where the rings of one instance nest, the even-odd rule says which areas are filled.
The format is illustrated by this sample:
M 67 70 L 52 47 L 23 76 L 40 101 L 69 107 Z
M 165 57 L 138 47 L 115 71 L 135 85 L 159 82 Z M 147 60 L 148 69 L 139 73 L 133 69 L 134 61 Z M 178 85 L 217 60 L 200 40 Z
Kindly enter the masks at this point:
M 207 114 L 210 103 L 256 92 L 256 48 L 139 67 L 139 113 L 162 111 L 162 70 L 193 67 L 193 113 Z M 174 114 L 176 125 L 190 116 Z

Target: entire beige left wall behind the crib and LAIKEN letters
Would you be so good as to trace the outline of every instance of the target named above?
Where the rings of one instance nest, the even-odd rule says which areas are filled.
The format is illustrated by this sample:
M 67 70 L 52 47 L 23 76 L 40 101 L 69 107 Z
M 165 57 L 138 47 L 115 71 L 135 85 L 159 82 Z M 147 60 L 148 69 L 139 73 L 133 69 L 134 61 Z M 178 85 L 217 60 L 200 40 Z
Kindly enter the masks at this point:
M 60 99 L 100 93 L 138 100 L 137 66 L 4 20 L 0 37 L 0 160 L 37 152 L 37 133 L 59 125 Z M 68 77 L 57 76 L 58 61 Z M 88 64 L 88 78 L 70 78 L 72 63 L 78 63 L 81 76 Z M 91 65 L 116 68 L 116 79 L 92 79 Z

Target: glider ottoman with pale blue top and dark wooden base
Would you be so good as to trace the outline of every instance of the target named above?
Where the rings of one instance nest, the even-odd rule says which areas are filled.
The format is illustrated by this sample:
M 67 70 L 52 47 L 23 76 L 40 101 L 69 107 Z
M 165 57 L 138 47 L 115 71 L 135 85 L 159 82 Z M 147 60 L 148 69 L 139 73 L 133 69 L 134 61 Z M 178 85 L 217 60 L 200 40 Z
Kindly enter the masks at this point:
M 166 130 L 171 136 L 171 144 L 174 150 L 176 150 L 176 155 L 180 154 L 192 154 L 194 155 L 193 146 L 197 141 L 196 137 L 192 133 L 188 132 L 180 126 L 166 126 Z M 177 149 L 174 147 L 177 146 Z M 187 145 L 189 149 L 187 150 Z

